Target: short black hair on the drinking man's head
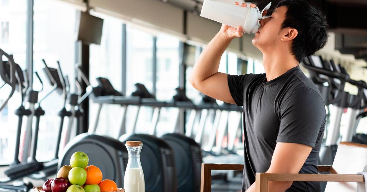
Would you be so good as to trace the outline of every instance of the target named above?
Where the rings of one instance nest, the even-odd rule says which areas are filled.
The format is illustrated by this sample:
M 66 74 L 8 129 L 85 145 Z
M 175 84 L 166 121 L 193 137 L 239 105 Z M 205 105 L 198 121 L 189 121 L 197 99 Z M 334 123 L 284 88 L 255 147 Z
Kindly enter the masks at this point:
M 281 29 L 291 27 L 298 31 L 292 42 L 292 53 L 299 63 L 326 45 L 328 24 L 324 14 L 305 0 L 281 0 L 277 7 L 287 7 Z

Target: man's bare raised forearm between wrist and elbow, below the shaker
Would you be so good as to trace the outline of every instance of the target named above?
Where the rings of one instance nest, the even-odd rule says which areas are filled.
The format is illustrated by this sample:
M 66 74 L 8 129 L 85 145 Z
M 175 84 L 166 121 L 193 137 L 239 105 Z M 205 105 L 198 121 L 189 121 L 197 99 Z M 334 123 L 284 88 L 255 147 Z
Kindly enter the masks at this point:
M 214 36 L 203 52 L 201 52 L 194 65 L 190 75 L 190 82 L 192 84 L 202 82 L 218 72 L 221 56 L 227 49 L 230 41 L 231 39 L 227 38 L 221 32 L 218 32 Z

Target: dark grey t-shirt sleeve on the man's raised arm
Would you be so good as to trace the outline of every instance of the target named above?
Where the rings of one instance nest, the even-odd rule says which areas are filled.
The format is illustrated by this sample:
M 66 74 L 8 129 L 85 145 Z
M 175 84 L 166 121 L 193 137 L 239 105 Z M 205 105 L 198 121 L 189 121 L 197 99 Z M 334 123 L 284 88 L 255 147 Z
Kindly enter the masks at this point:
M 229 92 L 237 106 L 243 106 L 243 91 L 249 75 L 228 75 Z

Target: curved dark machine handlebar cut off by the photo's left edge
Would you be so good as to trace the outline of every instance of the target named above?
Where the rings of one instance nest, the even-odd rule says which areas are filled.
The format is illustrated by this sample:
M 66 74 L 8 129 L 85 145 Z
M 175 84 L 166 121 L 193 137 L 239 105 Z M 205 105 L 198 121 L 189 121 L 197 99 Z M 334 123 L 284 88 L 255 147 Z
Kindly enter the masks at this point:
M 10 77 L 9 77 L 9 79 L 7 79 L 6 75 L 5 75 L 3 55 L 8 58 L 9 64 L 10 64 Z M 12 56 L 10 56 L 9 54 L 7 54 L 2 49 L 0 49 L 0 77 L 3 79 L 4 82 L 6 82 L 8 85 L 11 86 L 11 91 L 10 91 L 7 99 L 0 106 L 0 111 L 1 111 L 5 107 L 5 105 L 8 103 L 10 97 L 13 96 L 13 94 L 15 92 L 15 83 L 16 83 L 14 58 Z

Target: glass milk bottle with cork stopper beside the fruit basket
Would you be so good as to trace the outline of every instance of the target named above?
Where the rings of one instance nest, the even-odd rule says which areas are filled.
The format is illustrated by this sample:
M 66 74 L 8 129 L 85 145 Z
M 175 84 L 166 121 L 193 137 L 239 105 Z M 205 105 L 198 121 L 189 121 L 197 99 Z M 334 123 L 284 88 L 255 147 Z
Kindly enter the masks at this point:
M 140 163 L 140 152 L 143 143 L 127 141 L 125 146 L 129 153 L 129 161 L 125 171 L 124 189 L 126 192 L 145 192 L 144 174 Z

